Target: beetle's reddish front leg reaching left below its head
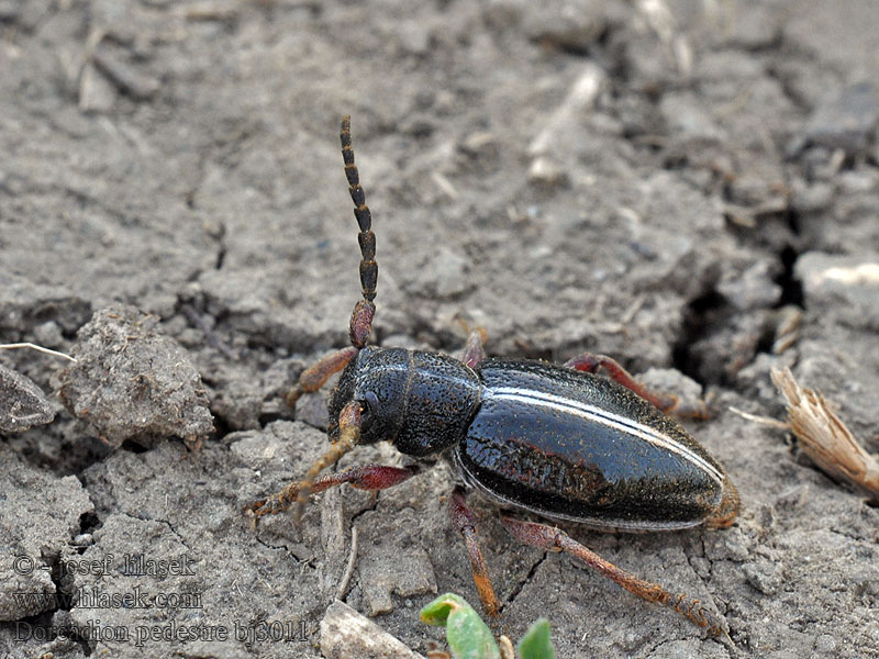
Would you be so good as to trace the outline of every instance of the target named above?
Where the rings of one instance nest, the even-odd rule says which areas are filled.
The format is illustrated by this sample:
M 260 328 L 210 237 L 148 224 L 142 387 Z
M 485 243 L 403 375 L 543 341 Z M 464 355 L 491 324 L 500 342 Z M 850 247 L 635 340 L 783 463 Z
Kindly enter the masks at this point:
M 410 467 L 386 467 L 383 465 L 364 465 L 352 467 L 336 473 L 325 473 L 318 477 L 311 484 L 311 493 L 323 492 L 330 488 L 351 483 L 358 490 L 375 492 L 398 485 L 420 471 L 418 465 Z M 296 481 L 276 492 L 268 499 L 259 499 L 244 506 L 244 513 L 253 517 L 274 515 L 289 509 L 299 496 L 304 481 Z

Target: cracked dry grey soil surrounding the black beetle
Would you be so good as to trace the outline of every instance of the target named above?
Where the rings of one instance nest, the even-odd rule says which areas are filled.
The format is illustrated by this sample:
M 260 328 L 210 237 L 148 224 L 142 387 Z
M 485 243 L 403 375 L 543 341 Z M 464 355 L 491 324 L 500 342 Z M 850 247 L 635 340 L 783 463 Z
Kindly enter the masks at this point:
M 240 512 L 325 447 L 325 394 L 293 413 L 280 392 L 345 345 L 358 298 L 344 112 L 377 344 L 457 350 L 460 314 L 490 355 L 589 349 L 701 390 L 713 416 L 688 427 L 742 494 L 726 530 L 568 528 L 706 602 L 732 645 L 518 546 L 474 499 L 512 636 L 546 616 L 563 658 L 879 657 L 879 511 L 730 411 L 781 417 L 769 369 L 790 365 L 879 451 L 879 9 L 536 4 L 0 2 L 0 342 L 70 353 L 96 312 L 134 306 L 182 357 L 108 366 L 96 401 L 121 423 L 123 394 L 174 393 L 214 427 L 188 450 L 165 435 L 196 411 L 171 405 L 104 442 L 55 395 L 67 362 L 0 350 L 57 412 L 0 439 L 0 657 L 321 657 L 353 527 L 345 602 L 415 651 L 442 640 L 418 621 L 435 592 L 477 602 L 443 462 L 326 492 L 299 527 Z M 151 389 L 183 361 L 191 395 Z M 399 456 L 342 466 L 374 460 Z M 208 627 L 229 638 L 180 639 Z

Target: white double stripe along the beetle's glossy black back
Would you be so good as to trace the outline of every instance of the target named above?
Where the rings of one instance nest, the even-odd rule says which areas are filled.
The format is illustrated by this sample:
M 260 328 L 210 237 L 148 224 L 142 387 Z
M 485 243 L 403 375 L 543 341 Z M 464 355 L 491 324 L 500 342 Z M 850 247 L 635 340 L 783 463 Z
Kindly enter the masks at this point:
M 723 485 L 723 474 L 717 471 L 716 467 L 708 462 L 702 456 L 694 453 L 691 448 L 683 444 L 676 442 L 671 437 L 657 433 L 654 428 L 637 423 L 632 418 L 620 416 L 601 407 L 589 405 L 580 401 L 574 401 L 565 396 L 547 393 L 545 391 L 534 391 L 532 389 L 518 389 L 515 387 L 498 387 L 487 388 L 486 399 L 507 399 L 521 403 L 531 403 L 534 405 L 543 405 L 552 407 L 568 414 L 577 414 L 588 421 L 600 423 L 608 427 L 635 435 L 636 437 L 653 444 L 659 448 L 665 448 L 674 454 L 679 455 L 686 460 L 696 465 L 699 469 L 705 471 L 719 485 Z

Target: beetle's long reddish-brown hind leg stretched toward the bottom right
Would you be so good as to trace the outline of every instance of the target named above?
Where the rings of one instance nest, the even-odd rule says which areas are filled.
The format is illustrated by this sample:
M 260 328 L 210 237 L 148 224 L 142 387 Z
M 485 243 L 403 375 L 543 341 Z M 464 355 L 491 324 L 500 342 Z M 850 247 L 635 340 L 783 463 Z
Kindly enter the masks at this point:
M 708 630 L 712 635 L 717 636 L 726 633 L 725 622 L 717 615 L 703 608 L 699 600 L 694 600 L 685 594 L 670 593 L 658 583 L 644 581 L 634 574 L 630 574 L 625 570 L 621 570 L 612 562 L 604 560 L 594 551 L 572 539 L 564 530 L 549 526 L 548 524 L 525 522 L 507 515 L 501 515 L 501 521 L 507 527 L 507 530 L 521 543 L 533 545 L 534 547 L 539 547 L 548 551 L 565 551 L 570 554 L 638 597 L 647 602 L 657 602 L 664 606 L 674 608 L 700 627 L 708 627 Z

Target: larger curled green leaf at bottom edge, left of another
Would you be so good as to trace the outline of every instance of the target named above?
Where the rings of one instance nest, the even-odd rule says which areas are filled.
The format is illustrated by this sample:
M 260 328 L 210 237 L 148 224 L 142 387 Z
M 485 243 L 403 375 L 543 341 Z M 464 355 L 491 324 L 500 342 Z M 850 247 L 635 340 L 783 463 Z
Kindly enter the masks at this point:
M 494 636 L 464 597 L 454 593 L 439 595 L 421 610 L 421 619 L 446 628 L 448 649 L 455 659 L 500 659 Z

